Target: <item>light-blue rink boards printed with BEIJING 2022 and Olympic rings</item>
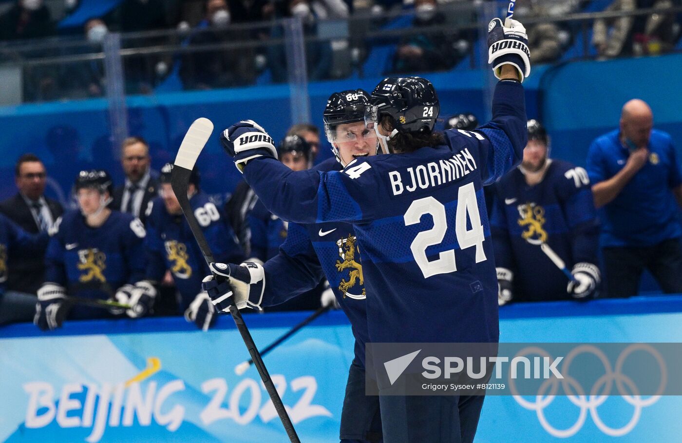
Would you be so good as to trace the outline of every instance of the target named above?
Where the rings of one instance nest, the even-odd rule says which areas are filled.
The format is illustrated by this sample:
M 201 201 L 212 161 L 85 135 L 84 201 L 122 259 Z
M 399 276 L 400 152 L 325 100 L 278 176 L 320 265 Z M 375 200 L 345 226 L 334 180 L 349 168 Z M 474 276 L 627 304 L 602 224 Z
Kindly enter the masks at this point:
M 246 321 L 263 347 L 307 315 Z M 511 305 L 501 310 L 500 330 L 508 342 L 676 342 L 682 296 Z M 351 329 L 332 312 L 265 358 L 302 442 L 337 438 L 352 357 Z M 233 371 L 246 358 L 227 317 L 207 333 L 180 318 L 74 321 L 45 334 L 30 324 L 0 328 L 0 442 L 286 442 L 256 371 Z M 488 397 L 475 442 L 679 442 L 682 435 L 680 397 L 575 403 Z

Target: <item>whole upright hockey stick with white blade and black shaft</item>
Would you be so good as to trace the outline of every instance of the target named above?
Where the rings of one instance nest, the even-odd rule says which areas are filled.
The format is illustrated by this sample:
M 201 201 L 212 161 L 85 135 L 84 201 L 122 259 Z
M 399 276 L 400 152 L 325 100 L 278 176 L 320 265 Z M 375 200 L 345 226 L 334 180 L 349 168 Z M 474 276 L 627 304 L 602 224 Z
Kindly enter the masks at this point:
M 190 200 L 187 197 L 187 189 L 190 183 L 190 173 L 192 173 L 192 169 L 194 169 L 194 164 L 196 163 L 199 154 L 201 154 L 201 150 L 206 145 L 209 137 L 211 137 L 211 132 L 213 132 L 213 123 L 211 123 L 211 120 L 203 117 L 196 119 L 194 123 L 192 123 L 192 126 L 190 126 L 187 134 L 185 134 L 185 138 L 183 139 L 180 149 L 177 152 L 177 157 L 175 158 L 175 167 L 173 167 L 173 172 L 170 173 L 170 186 L 173 188 L 173 192 L 175 192 L 175 197 L 180 204 L 180 208 L 182 208 L 182 212 L 185 214 L 187 223 L 190 225 L 190 229 L 192 229 L 192 234 L 194 234 L 196 243 L 199 245 L 206 263 L 212 263 L 215 260 L 213 259 L 213 253 L 211 253 L 211 248 L 206 242 L 203 231 L 201 231 L 201 226 L 199 226 L 199 223 L 194 216 L 194 212 L 192 212 Z M 213 274 L 213 278 L 216 278 L 216 281 L 219 282 L 222 282 L 225 279 L 224 276 L 216 274 Z M 282 403 L 282 399 L 280 399 L 275 384 L 273 384 L 270 379 L 265 363 L 263 363 L 263 358 L 261 358 L 261 354 L 258 352 L 258 348 L 251 337 L 251 333 L 246 327 L 244 320 L 241 318 L 239 309 L 237 309 L 237 306 L 234 304 L 230 306 L 229 309 L 232 319 L 235 321 L 237 329 L 241 334 L 241 339 L 243 339 L 244 344 L 249 350 L 249 354 L 251 354 L 252 360 L 256 364 L 258 374 L 261 375 L 261 380 L 263 380 L 270 400 L 275 406 L 275 410 L 277 411 L 278 416 L 280 416 L 280 420 L 282 420 L 286 435 L 288 435 L 289 440 L 291 440 L 292 443 L 300 443 L 294 426 L 291 423 L 291 418 L 289 418 L 284 409 L 284 403 Z

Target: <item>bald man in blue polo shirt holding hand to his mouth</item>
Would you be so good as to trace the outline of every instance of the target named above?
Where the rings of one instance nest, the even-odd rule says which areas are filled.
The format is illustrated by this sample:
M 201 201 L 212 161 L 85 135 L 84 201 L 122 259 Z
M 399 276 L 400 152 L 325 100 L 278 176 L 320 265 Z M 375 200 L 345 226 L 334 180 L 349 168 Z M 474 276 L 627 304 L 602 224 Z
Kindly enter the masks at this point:
M 682 177 L 672 139 L 653 129 L 647 103 L 625 103 L 619 129 L 590 146 L 587 172 L 595 205 L 603 208 L 608 295 L 636 295 L 644 269 L 664 292 L 682 292 Z

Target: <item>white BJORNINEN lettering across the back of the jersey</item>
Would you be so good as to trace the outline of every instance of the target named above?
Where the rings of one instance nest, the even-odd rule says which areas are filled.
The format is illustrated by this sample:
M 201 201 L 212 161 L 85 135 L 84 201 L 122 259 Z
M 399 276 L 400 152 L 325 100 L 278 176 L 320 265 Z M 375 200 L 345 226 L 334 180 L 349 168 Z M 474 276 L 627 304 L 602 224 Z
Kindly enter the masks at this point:
M 458 180 L 477 168 L 473 156 L 468 148 L 454 154 L 446 160 L 428 162 L 417 167 L 409 167 L 405 171 L 389 171 L 393 195 L 403 192 L 414 192 L 417 189 L 440 186 L 447 182 Z

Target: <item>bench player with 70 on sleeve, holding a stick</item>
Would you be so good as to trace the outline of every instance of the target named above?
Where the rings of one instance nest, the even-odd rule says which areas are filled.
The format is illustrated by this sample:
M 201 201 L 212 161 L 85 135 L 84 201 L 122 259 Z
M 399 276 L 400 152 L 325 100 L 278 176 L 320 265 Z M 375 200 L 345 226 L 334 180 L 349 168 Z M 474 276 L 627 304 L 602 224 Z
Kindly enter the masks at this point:
M 494 185 L 490 225 L 499 304 L 592 298 L 600 281 L 597 216 L 587 172 L 548 157 L 549 137 L 528 122 L 523 161 Z M 571 270 L 569 281 L 542 252 L 546 243 Z

